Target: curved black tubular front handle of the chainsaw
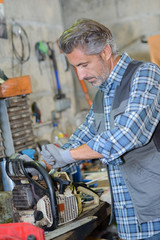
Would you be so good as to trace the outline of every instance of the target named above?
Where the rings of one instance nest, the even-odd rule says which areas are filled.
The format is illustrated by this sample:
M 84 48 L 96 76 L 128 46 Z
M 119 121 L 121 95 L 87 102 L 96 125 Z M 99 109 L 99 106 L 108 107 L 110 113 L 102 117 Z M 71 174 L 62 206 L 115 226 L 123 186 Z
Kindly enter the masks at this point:
M 37 184 L 27 173 L 27 171 L 25 170 L 25 168 L 35 168 L 36 170 L 38 170 L 40 172 L 40 174 L 43 176 L 45 183 L 47 185 L 48 188 L 48 192 L 49 192 L 49 197 L 50 197 L 50 203 L 51 203 L 51 210 L 52 210 L 52 216 L 53 216 L 53 224 L 51 227 L 45 227 L 45 231 L 52 231 L 54 230 L 57 225 L 58 225 L 58 208 L 57 208 L 57 201 L 56 201 L 56 194 L 54 191 L 54 186 L 53 186 L 53 182 L 51 179 L 51 176 L 48 174 L 48 172 L 46 171 L 46 169 L 44 167 L 41 166 L 41 164 L 36 163 L 34 161 L 31 162 L 25 162 L 25 161 L 21 161 L 21 166 L 24 170 L 24 174 L 25 176 L 29 179 L 29 181 L 31 181 L 33 184 Z

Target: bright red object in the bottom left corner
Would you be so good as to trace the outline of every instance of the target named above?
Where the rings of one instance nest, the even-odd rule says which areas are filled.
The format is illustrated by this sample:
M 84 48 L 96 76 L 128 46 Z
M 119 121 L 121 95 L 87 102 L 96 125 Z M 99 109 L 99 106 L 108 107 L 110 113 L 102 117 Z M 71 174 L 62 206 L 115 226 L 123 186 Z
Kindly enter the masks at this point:
M 31 223 L 0 224 L 0 240 L 45 240 L 44 230 Z

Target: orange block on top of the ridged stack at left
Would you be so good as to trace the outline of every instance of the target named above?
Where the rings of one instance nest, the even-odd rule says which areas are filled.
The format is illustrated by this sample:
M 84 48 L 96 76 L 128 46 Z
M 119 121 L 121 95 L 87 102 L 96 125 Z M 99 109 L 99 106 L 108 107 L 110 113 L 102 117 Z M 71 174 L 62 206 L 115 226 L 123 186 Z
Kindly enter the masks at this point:
M 0 98 L 13 97 L 17 95 L 30 94 L 32 86 L 30 76 L 21 76 L 9 78 L 3 84 L 0 84 Z

